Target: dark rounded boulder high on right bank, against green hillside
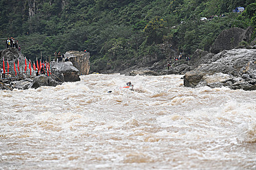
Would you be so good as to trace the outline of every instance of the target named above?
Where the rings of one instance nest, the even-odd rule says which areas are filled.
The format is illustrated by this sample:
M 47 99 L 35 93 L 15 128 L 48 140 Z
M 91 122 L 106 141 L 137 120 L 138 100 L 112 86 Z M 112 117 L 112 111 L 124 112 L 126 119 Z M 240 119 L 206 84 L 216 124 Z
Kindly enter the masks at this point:
M 242 41 L 249 42 L 252 33 L 252 27 L 248 27 L 246 30 L 236 27 L 224 30 L 215 39 L 210 51 L 218 53 L 223 50 L 232 50 Z

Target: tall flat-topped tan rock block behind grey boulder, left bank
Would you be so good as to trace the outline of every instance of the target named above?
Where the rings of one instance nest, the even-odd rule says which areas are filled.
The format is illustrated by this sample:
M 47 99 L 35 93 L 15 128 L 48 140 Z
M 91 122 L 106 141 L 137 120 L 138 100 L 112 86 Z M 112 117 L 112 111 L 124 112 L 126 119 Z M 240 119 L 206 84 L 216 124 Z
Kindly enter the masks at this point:
M 67 51 L 64 54 L 68 61 L 71 61 L 73 66 L 78 69 L 79 75 L 87 75 L 90 70 L 90 53 L 83 51 Z

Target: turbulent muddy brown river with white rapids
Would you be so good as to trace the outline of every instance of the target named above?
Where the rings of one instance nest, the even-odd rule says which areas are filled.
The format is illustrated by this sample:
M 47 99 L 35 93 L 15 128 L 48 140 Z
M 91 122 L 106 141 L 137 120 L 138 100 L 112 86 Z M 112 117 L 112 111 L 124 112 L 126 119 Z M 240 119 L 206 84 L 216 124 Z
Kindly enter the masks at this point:
M 181 77 L 0 91 L 0 170 L 256 169 L 256 91 Z M 134 91 L 120 88 L 129 81 Z

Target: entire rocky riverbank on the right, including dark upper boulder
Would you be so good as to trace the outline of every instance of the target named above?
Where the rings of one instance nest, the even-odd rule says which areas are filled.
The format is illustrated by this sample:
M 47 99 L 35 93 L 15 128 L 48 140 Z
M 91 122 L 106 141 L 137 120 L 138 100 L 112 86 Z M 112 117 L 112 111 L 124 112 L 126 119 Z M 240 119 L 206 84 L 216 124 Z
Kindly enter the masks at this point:
M 184 85 L 187 87 L 207 85 L 212 88 L 227 86 L 256 90 L 256 39 L 250 42 L 252 33 L 252 27 L 224 30 L 213 43 L 211 52 L 196 50 L 189 62 L 175 62 L 168 70 L 165 64 L 169 60 L 165 59 L 149 67 L 133 66 L 121 71 L 121 74 L 185 74 Z

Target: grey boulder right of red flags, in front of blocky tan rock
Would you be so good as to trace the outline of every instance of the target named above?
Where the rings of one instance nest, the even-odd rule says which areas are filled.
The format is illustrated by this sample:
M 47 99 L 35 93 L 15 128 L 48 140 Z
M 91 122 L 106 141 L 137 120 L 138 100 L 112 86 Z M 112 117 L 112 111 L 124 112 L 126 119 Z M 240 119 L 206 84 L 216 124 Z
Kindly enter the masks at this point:
M 78 75 L 78 69 L 70 66 L 69 63 L 66 62 L 51 62 L 50 69 L 52 76 L 58 82 L 76 82 L 80 81 Z

